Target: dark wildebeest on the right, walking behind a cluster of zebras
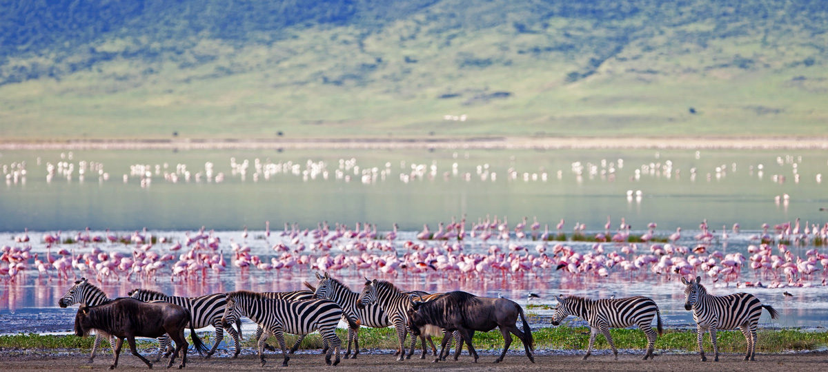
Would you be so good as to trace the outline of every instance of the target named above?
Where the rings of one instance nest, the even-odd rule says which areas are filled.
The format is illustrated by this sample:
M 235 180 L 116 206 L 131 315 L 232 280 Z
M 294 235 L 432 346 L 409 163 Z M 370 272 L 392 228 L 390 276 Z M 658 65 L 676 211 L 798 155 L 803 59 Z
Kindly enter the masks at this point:
M 523 321 L 523 331 L 517 329 L 518 316 Z M 511 332 L 523 342 L 526 356 L 532 360 L 532 363 L 535 363 L 535 358 L 532 356 L 535 341 L 532 339 L 532 330 L 526 322 L 523 309 L 514 301 L 506 298 L 477 297 L 471 293 L 455 291 L 445 293 L 442 297 L 429 302 L 415 301 L 412 308 L 408 310 L 408 327 L 412 333 L 419 336 L 426 331 L 426 328 L 431 328 L 427 326 L 436 326 L 446 331 L 460 331 L 460 336 L 469 346 L 469 353 L 474 355 L 474 363 L 478 360 L 477 351 L 474 351 L 474 346 L 471 345 L 474 331 L 488 332 L 494 327 L 499 327 L 506 343 L 500 357 L 494 362 L 503 361 L 503 356 L 512 344 L 512 335 L 509 334 Z M 449 338 L 450 333 L 446 333 L 440 346 L 440 355 L 434 360 L 435 362 L 443 355 Z M 457 348 L 458 351 L 461 349 L 462 347 Z M 455 360 L 459 355 L 459 352 L 455 352 Z

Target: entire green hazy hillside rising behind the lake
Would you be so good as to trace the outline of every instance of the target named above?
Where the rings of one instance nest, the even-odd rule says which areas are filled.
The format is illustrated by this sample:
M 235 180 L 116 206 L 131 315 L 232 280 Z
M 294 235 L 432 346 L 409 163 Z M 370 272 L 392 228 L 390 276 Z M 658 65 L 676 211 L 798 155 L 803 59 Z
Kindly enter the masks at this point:
M 825 136 L 826 31 L 818 0 L 7 1 L 0 141 Z

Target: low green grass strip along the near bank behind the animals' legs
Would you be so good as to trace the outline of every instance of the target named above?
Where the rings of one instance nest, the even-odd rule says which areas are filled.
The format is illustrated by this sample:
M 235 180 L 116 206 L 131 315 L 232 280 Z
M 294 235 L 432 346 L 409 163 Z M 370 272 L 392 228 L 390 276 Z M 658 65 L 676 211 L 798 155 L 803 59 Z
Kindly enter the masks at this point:
M 613 335 L 615 345 L 619 349 L 643 349 L 647 346 L 647 339 L 642 331 L 638 329 L 614 329 L 610 331 Z M 345 341 L 346 331 L 338 330 L 340 339 Z M 537 350 L 583 350 L 587 346 L 590 337 L 590 330 L 587 327 L 546 327 L 533 331 L 535 348 Z M 201 333 L 205 342 L 212 343 L 212 332 Z M 286 336 L 288 346 L 296 340 L 295 336 Z M 225 338 L 225 341 L 227 339 Z M 440 340 L 435 340 L 439 346 Z M 89 351 L 92 348 L 94 337 L 80 338 L 76 336 L 40 336 L 36 334 L 19 334 L 12 336 L 0 336 L 0 350 L 3 349 L 79 349 Z M 514 350 L 520 350 L 520 343 L 516 340 L 517 346 L 513 344 Z M 269 340 L 271 345 L 276 345 L 276 340 Z M 721 352 L 744 352 L 746 344 L 744 336 L 739 331 L 720 331 L 718 343 Z M 319 349 L 322 341 L 319 334 L 312 334 L 302 341 L 303 349 Z M 763 353 L 775 353 L 782 351 L 811 351 L 828 345 L 828 332 L 826 331 L 802 331 L 799 329 L 783 330 L 762 330 L 758 333 L 756 350 Z M 154 347 L 153 341 L 139 342 L 139 348 L 146 349 Z M 343 345 L 344 346 L 344 345 Z M 397 336 L 392 328 L 363 328 L 359 332 L 359 346 L 366 349 L 396 349 Z M 107 346 L 108 347 L 108 346 Z M 243 347 L 253 348 L 255 342 L 247 339 L 243 341 Z M 503 348 L 503 337 L 498 331 L 488 333 L 477 332 L 474 335 L 474 347 L 478 350 L 498 350 Z M 608 348 L 603 336 L 597 336 L 595 347 L 598 349 Z M 710 349 L 709 338 L 705 336 L 705 349 Z M 664 335 L 658 337 L 656 342 L 657 350 L 669 351 L 697 351 L 696 331 L 667 330 Z M 710 349 L 712 350 L 712 349 Z

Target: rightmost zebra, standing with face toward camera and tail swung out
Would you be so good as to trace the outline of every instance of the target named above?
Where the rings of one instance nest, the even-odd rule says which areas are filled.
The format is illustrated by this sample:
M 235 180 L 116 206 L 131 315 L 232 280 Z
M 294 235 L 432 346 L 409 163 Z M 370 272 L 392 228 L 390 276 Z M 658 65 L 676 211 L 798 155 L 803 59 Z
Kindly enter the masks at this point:
M 750 293 L 734 293 L 727 296 L 714 296 L 707 293 L 705 286 L 700 284 L 701 277 L 696 280 L 681 278 L 684 289 L 687 311 L 693 311 L 693 320 L 696 321 L 697 341 L 701 361 L 706 361 L 705 350 L 701 346 L 705 331 L 710 331 L 710 343 L 713 344 L 715 361 L 719 361 L 719 346 L 716 344 L 716 331 L 740 328 L 744 339 L 748 341 L 748 352 L 744 360 L 756 360 L 756 329 L 762 308 L 768 309 L 772 319 L 779 317 L 779 312 L 770 305 L 763 305 L 756 296 Z

